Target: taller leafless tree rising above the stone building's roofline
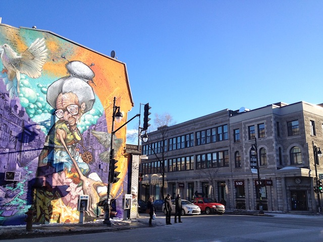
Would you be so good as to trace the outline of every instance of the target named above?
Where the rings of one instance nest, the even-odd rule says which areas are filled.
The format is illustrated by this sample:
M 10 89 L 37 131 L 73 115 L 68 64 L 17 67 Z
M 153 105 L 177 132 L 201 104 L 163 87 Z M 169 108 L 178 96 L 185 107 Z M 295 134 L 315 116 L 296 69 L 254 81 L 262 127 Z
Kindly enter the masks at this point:
M 160 174 L 162 177 L 162 184 L 161 184 L 161 198 L 164 200 L 165 198 L 165 155 L 167 153 L 168 147 L 167 147 L 167 134 L 169 131 L 169 127 L 175 125 L 176 122 L 174 122 L 173 117 L 169 113 L 163 113 L 161 115 L 155 113 L 155 118 L 153 120 L 153 127 L 152 129 L 155 130 L 155 132 L 158 132 L 159 135 L 156 136 L 156 140 L 151 140 L 149 137 L 149 143 L 158 142 L 160 146 L 160 152 L 155 152 L 155 147 L 151 147 L 149 144 L 149 148 L 151 149 L 152 153 L 156 157 L 156 159 L 160 163 Z

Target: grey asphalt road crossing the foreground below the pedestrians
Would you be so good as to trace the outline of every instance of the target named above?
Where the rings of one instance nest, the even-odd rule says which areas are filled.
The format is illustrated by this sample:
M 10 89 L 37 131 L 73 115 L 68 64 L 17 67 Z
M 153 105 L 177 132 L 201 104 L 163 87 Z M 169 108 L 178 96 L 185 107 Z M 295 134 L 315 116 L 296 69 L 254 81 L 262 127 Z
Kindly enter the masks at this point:
M 172 222 L 174 217 L 172 216 Z M 183 223 L 165 224 L 165 216 L 157 214 L 159 226 L 95 234 L 67 235 L 12 242 L 51 241 L 185 241 L 185 242 L 322 242 L 323 216 L 249 216 L 195 215 L 182 217 Z

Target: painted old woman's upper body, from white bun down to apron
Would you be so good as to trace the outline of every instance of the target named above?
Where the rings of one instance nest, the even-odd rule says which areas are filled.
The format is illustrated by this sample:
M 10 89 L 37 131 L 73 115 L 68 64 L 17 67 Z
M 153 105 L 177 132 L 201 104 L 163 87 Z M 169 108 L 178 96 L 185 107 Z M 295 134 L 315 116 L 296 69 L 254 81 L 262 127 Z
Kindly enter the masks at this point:
M 81 62 L 67 64 L 70 76 L 61 78 L 48 87 L 47 102 L 55 108 L 59 120 L 50 129 L 38 166 L 50 163 L 59 172 L 71 170 L 73 160 L 76 169 L 86 174 L 89 167 L 76 149 L 82 142 L 77 124 L 83 113 L 89 111 L 95 101 L 92 87 L 88 81 L 94 77 L 92 70 Z

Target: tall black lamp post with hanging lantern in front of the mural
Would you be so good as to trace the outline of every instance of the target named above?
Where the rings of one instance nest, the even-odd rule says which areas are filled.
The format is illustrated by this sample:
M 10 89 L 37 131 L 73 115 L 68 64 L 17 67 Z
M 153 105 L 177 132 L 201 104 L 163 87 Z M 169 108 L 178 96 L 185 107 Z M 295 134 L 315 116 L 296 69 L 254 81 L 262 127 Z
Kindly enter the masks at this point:
M 117 111 L 118 110 L 118 111 Z M 104 213 L 104 224 L 111 225 L 110 221 L 110 193 L 113 184 L 113 176 L 114 176 L 114 162 L 112 162 L 114 158 L 114 136 L 115 136 L 115 120 L 116 122 L 120 123 L 122 119 L 122 113 L 120 112 L 120 107 L 116 106 L 116 97 L 113 101 L 113 113 L 112 113 L 112 128 L 111 128 L 111 147 L 110 147 L 110 161 L 109 161 L 109 181 L 107 186 L 107 197 L 105 203 L 105 213 Z M 119 129 L 118 129 L 119 130 Z

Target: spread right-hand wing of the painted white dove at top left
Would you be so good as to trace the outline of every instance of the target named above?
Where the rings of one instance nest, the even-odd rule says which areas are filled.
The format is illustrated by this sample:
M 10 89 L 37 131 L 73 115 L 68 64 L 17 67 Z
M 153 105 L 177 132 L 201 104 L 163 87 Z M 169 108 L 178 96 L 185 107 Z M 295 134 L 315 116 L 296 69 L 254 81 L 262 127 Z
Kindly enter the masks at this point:
M 21 53 L 21 56 L 12 60 L 12 65 L 31 78 L 38 78 L 41 75 L 42 67 L 46 62 L 47 49 L 44 38 L 36 39 L 28 49 Z

